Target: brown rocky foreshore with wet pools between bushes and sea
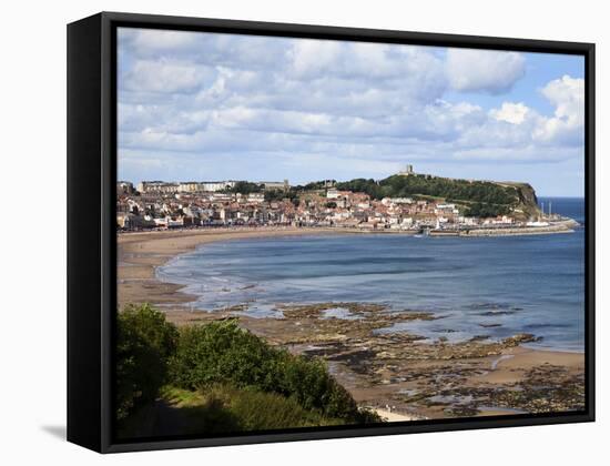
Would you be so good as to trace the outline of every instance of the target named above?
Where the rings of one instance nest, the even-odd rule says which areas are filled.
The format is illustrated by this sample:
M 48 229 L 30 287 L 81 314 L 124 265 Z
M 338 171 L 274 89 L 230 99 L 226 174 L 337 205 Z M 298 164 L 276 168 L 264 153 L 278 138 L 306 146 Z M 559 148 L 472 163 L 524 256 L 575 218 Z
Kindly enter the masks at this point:
M 324 315 L 337 307 L 348 308 L 350 318 Z M 376 332 L 396 322 L 438 318 L 430 313 L 390 313 L 383 305 L 362 303 L 278 308 L 283 318 L 242 317 L 243 325 L 294 353 L 325 358 L 337 379 L 366 406 L 389 405 L 416 418 L 583 408 L 582 355 L 521 346 L 535 342 L 536 335 L 500 341 L 475 336 L 454 344 L 440 337 L 430 343 L 405 332 Z M 536 361 L 528 361 L 528 354 Z M 516 357 L 520 364 L 508 364 Z M 506 379 L 495 382 L 490 374 Z

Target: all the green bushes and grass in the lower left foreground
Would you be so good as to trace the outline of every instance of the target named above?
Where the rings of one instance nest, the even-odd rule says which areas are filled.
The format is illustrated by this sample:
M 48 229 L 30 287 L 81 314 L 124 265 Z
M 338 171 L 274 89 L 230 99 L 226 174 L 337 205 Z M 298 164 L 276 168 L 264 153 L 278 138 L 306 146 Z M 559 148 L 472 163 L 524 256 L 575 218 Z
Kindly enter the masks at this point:
M 131 435 L 155 407 L 180 411 L 174 434 L 380 422 L 322 359 L 272 347 L 236 320 L 179 330 L 149 305 L 128 306 L 116 350 L 116 418 Z

